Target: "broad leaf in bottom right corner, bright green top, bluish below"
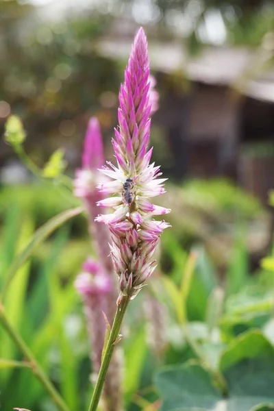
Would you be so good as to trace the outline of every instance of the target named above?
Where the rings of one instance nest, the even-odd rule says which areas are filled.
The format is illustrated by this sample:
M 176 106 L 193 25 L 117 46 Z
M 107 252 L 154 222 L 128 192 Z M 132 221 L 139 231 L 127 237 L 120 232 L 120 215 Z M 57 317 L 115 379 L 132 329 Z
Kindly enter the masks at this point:
M 229 388 L 227 411 L 274 401 L 274 348 L 259 330 L 235 338 L 223 352 L 220 369 Z

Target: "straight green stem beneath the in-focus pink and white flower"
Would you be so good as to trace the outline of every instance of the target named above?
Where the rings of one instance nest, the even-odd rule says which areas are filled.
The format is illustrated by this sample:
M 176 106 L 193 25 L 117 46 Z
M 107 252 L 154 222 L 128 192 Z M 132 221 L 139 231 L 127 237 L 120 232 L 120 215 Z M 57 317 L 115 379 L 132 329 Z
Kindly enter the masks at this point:
M 101 363 L 101 368 L 99 371 L 97 383 L 95 385 L 95 389 L 92 394 L 92 399 L 90 401 L 90 406 L 88 408 L 88 411 L 96 411 L 98 404 L 99 404 L 99 399 L 101 397 L 101 392 L 103 390 L 103 384 L 105 382 L 105 375 L 108 372 L 108 367 L 110 365 L 110 360 L 112 359 L 112 353 L 114 351 L 115 345 L 117 338 L 119 336 L 119 332 L 121 329 L 121 325 L 123 322 L 123 318 L 125 316 L 125 312 L 127 310 L 128 303 L 130 301 L 130 297 L 125 297 L 123 296 L 119 307 L 116 310 L 114 322 L 112 325 L 112 330 L 110 332 L 110 338 L 108 339 L 108 344 L 105 347 L 105 354 L 103 356 L 103 360 Z

